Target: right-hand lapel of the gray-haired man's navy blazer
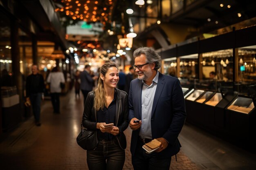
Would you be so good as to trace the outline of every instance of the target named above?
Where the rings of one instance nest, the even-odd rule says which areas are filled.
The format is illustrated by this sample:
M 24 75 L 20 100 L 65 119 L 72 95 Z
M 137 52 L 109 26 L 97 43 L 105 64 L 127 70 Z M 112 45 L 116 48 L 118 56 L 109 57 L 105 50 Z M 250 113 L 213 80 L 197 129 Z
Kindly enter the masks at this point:
M 151 118 L 155 114 L 155 108 L 157 106 L 158 100 L 159 100 L 159 98 L 162 94 L 162 91 L 164 89 L 164 84 L 165 84 L 164 77 L 161 73 L 159 73 L 157 89 L 155 90 L 155 97 L 154 97 L 153 106 L 152 106 Z

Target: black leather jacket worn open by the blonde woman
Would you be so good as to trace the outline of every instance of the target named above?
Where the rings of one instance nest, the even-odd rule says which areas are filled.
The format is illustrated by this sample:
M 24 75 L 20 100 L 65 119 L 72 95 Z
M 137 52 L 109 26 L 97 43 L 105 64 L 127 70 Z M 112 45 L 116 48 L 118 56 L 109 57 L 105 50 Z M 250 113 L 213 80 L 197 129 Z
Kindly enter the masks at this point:
M 117 141 L 121 149 L 126 148 L 126 137 L 124 135 L 124 130 L 128 127 L 128 95 L 126 92 L 115 88 L 117 93 L 117 111 L 115 126 L 119 128 L 119 134 L 116 135 Z M 85 101 L 85 107 L 83 110 L 83 127 L 99 130 L 97 129 L 97 111 L 93 107 L 95 92 L 91 91 L 88 93 L 88 97 Z

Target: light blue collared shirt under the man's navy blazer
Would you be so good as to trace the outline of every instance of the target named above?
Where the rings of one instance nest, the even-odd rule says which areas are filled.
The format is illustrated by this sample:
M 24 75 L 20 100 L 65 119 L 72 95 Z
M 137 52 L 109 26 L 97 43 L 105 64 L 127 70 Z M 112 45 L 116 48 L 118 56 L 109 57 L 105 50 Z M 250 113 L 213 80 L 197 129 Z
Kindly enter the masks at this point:
M 151 132 L 151 112 L 153 107 L 153 101 L 155 97 L 155 90 L 157 89 L 159 72 L 155 75 L 150 86 L 148 86 L 144 80 L 142 80 L 142 94 L 141 94 L 141 128 L 139 136 L 141 138 L 152 139 Z

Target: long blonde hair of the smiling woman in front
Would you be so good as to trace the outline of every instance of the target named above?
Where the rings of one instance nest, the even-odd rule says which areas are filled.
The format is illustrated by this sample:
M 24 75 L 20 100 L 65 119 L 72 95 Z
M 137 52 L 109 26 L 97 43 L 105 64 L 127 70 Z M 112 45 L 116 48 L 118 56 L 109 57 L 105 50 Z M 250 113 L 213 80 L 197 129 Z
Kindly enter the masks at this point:
M 117 64 L 113 62 L 107 62 L 103 64 L 99 69 L 99 80 L 98 80 L 98 87 L 95 90 L 95 97 L 94 97 L 94 108 L 96 110 L 103 109 L 106 105 L 106 92 L 103 88 L 103 80 L 101 79 L 101 74 L 105 77 L 106 73 L 108 72 L 108 68 L 116 67 L 118 70 Z

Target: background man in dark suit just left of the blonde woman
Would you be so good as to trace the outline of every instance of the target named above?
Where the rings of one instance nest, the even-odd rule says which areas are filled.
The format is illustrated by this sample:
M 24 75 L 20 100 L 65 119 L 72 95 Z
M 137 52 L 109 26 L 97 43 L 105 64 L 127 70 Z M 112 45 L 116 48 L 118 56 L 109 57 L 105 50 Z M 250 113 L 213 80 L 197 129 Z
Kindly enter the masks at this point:
M 98 77 L 97 76 L 91 76 L 90 75 L 90 65 L 85 65 L 84 71 L 80 73 L 80 80 L 81 80 L 81 91 L 83 93 L 84 97 L 84 103 L 85 99 L 90 91 L 92 91 L 93 85 L 94 85 L 94 80 L 96 80 Z

